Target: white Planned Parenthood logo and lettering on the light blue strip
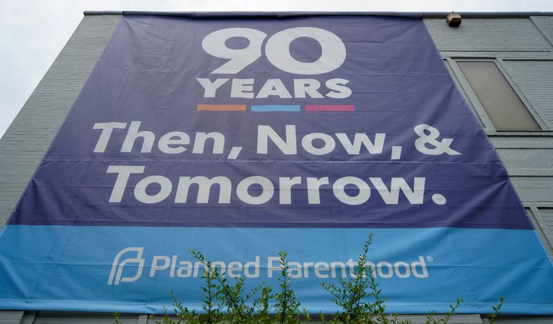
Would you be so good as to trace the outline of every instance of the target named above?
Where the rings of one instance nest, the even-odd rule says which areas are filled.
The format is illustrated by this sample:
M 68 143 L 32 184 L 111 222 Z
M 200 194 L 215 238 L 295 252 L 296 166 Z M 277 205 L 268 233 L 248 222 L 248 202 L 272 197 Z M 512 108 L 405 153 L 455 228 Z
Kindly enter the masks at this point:
M 142 258 L 143 247 L 126 247 L 118 252 L 113 258 L 111 271 L 109 273 L 108 285 L 120 285 L 120 283 L 131 283 L 142 276 L 145 259 Z M 125 258 L 123 258 L 123 256 Z M 265 260 L 265 264 L 261 260 Z M 408 261 L 368 261 L 366 265 L 373 269 L 373 276 L 379 278 L 428 278 L 429 271 L 427 262 L 433 262 L 431 256 L 426 258 L 418 256 L 415 260 Z M 288 261 L 288 275 L 292 279 L 297 278 L 348 278 L 355 277 L 357 271 L 357 260 L 349 258 L 345 262 L 300 262 L 297 260 Z M 254 256 L 252 260 L 242 262 L 233 260 L 212 261 L 212 266 L 218 268 L 218 272 L 230 278 L 274 278 L 282 271 L 279 256 Z M 128 270 L 131 268 L 131 270 Z M 127 269 L 127 270 L 124 270 Z M 158 275 L 169 276 L 169 278 L 199 278 L 207 269 L 200 261 L 182 260 L 177 255 L 163 256 L 156 255 L 149 264 L 149 277 Z M 266 273 L 261 274 L 261 270 Z M 133 276 L 124 276 L 133 274 Z

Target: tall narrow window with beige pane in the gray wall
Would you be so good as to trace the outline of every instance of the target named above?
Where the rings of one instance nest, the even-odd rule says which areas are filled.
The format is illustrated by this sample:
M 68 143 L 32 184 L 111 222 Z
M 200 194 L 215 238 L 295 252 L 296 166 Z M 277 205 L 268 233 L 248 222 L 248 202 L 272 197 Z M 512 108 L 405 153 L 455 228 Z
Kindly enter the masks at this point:
M 541 130 L 493 61 L 457 61 L 457 64 L 498 131 Z

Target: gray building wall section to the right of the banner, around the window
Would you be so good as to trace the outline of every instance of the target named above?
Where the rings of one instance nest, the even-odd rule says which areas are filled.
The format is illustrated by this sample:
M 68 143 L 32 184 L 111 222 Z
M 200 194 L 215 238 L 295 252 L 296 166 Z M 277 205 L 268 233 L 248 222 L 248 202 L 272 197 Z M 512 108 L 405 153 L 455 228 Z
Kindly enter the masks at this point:
M 444 63 L 485 128 L 512 184 L 553 256 L 553 17 L 465 17 L 458 28 L 425 19 Z M 494 61 L 543 131 L 496 131 L 456 64 Z

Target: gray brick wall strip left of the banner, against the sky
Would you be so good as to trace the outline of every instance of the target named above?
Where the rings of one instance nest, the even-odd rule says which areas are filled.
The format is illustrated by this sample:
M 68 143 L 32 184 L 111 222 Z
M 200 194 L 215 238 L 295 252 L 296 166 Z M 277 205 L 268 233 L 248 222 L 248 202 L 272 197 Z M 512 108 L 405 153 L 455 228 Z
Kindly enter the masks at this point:
M 120 16 L 86 16 L 0 140 L 0 229 L 104 51 Z

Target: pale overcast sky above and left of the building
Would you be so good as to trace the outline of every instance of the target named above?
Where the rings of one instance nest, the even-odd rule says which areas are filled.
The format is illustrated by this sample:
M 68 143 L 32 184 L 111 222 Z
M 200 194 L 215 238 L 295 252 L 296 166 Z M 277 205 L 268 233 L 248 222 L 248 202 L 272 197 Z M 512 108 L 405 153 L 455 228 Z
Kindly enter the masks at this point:
M 553 11 L 553 0 L 2 0 L 1 4 L 0 137 L 62 50 L 84 10 Z

